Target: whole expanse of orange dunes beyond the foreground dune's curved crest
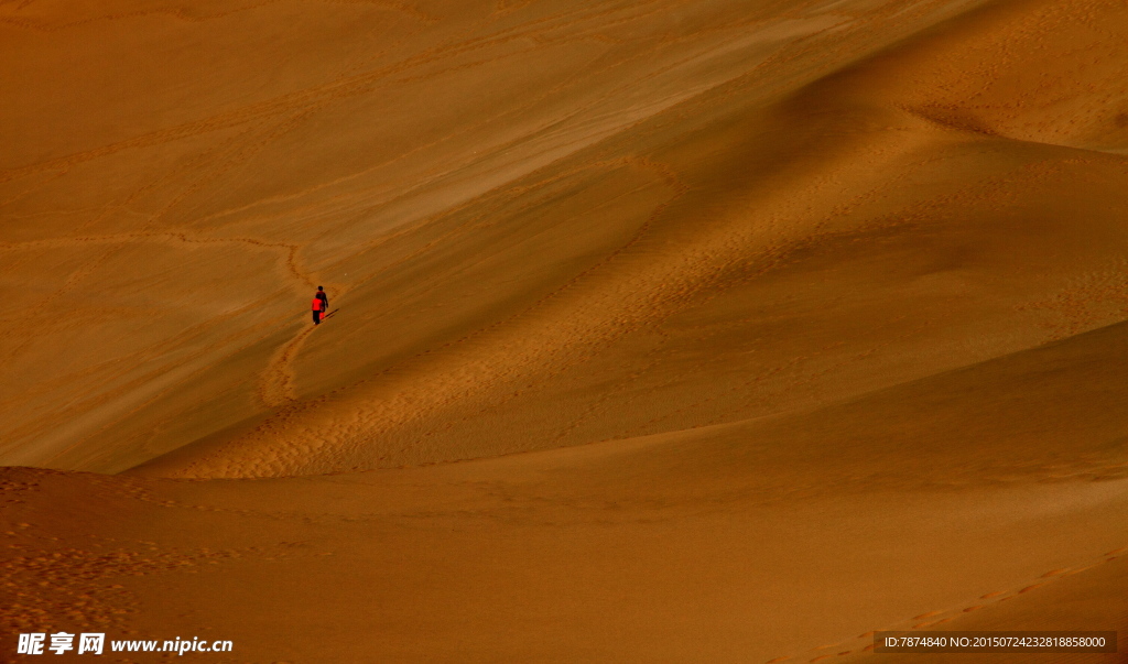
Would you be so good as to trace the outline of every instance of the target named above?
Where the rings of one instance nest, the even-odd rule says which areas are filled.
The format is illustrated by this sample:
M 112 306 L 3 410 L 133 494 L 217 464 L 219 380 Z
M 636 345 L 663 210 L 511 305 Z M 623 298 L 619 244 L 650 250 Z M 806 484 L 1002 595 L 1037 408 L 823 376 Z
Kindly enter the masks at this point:
M 1128 307 L 1116 6 L 52 11 L 0 23 L 9 463 L 194 443 L 155 467 L 276 476 L 632 437 Z M 267 19 L 284 68 L 252 41 L 185 69 Z M 63 38 L 98 59 L 60 96 Z M 342 308 L 316 334 L 315 283 Z

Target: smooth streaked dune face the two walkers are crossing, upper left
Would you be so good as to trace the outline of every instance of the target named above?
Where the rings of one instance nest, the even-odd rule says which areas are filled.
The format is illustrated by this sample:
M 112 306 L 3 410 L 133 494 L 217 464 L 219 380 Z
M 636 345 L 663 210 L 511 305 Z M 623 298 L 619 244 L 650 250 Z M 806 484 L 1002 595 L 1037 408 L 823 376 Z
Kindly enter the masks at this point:
M 562 158 L 905 7 L 0 5 L 2 459 L 117 471 L 503 321 L 678 188 Z

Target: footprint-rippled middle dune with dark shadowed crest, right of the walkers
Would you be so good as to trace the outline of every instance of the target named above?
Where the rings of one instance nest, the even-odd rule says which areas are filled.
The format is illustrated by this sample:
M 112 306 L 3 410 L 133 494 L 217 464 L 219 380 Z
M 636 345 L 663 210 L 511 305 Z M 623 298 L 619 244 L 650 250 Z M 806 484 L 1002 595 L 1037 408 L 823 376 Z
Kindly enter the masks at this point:
M 680 431 L 1122 319 L 1111 35 L 1128 24 L 1066 6 L 972 9 L 794 89 L 787 64 L 755 70 L 381 242 L 367 256 L 394 263 L 340 325 L 263 374 L 276 410 L 144 471 L 312 473 Z

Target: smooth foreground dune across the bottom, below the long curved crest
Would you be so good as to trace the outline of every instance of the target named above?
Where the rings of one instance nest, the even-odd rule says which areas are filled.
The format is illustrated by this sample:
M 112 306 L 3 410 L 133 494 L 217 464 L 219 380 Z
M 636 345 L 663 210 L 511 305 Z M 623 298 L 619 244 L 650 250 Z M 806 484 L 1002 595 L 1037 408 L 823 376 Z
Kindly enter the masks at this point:
M 6 620 L 301 662 L 805 662 L 865 656 L 874 629 L 1118 629 L 1126 355 L 1120 324 L 809 413 L 429 468 L 10 469 Z

